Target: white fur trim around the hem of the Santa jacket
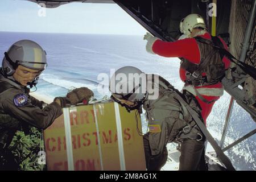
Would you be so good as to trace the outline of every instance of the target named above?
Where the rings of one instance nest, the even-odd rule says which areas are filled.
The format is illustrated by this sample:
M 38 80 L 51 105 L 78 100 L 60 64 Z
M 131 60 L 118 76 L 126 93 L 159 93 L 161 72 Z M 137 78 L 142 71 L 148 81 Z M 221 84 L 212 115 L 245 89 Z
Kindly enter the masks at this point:
M 194 96 L 197 96 L 197 92 L 199 92 L 203 96 L 216 96 L 220 97 L 224 94 L 224 88 L 198 88 L 195 90 L 195 87 L 192 85 L 184 86 L 183 90 L 187 90 L 188 92 L 192 93 Z

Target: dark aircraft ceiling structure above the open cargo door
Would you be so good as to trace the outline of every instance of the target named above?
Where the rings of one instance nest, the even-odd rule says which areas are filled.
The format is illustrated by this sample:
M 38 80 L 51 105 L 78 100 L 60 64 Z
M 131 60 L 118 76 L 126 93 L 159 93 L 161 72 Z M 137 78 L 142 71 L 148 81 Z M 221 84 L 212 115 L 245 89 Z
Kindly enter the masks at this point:
M 179 23 L 182 18 L 191 13 L 202 15 L 211 30 L 211 20 L 208 16 L 209 1 L 202 0 L 22 0 L 44 3 L 47 8 L 55 8 L 67 3 L 117 3 L 126 13 L 130 14 L 151 34 L 163 40 L 174 41 L 179 38 Z M 229 16 L 231 0 L 217 1 L 217 35 L 225 35 L 229 31 Z

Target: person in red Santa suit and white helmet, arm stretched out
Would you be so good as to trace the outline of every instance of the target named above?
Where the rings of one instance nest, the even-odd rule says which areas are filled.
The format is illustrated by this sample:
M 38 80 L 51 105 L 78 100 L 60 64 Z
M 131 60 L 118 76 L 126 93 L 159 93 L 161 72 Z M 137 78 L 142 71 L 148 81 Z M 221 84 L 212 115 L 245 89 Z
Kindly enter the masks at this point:
M 228 46 L 221 38 L 210 36 L 204 19 L 198 14 L 181 20 L 180 31 L 183 39 L 176 42 L 164 42 L 147 33 L 144 36 L 146 50 L 164 57 L 180 57 L 180 78 L 185 82 L 183 92 L 196 98 L 206 125 L 214 102 L 224 93 L 221 80 L 230 66 L 230 60 L 213 46 L 227 50 Z

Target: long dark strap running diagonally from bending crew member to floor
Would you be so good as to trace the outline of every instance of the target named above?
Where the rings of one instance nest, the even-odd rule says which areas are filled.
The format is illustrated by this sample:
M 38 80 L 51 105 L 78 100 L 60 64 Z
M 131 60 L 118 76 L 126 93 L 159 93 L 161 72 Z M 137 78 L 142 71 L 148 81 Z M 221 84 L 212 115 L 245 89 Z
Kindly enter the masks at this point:
M 196 111 L 193 110 L 192 107 L 189 106 L 187 104 L 187 102 L 185 102 L 183 100 L 183 98 L 178 93 L 174 92 L 174 94 L 177 97 L 177 100 L 179 100 L 180 103 L 183 104 L 187 108 L 187 110 L 191 114 L 192 118 L 195 119 L 197 126 L 199 126 L 202 133 L 205 135 L 207 140 L 210 142 L 210 144 L 216 151 L 216 154 L 220 158 L 221 162 L 225 165 L 226 169 L 228 169 L 229 171 L 236 171 L 236 169 L 234 169 L 234 167 L 233 167 L 233 164 L 230 162 L 229 158 L 224 154 L 224 152 L 221 150 L 220 146 L 218 146 L 217 142 L 213 139 L 212 135 L 210 135 L 210 133 L 207 130 L 207 128 L 205 127 L 204 123 L 199 118 L 198 113 L 196 113 Z

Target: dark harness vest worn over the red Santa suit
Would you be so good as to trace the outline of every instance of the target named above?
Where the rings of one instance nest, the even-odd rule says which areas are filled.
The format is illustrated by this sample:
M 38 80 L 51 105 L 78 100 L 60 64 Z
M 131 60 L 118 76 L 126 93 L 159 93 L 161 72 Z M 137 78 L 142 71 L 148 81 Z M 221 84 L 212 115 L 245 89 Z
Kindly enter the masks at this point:
M 221 82 L 225 76 L 225 64 L 222 62 L 222 55 L 218 48 L 223 49 L 221 40 L 212 36 L 212 40 L 197 36 L 197 44 L 200 48 L 200 64 L 194 64 L 186 59 L 181 59 L 181 68 L 186 72 L 186 85 L 204 86 L 214 85 Z M 203 76 L 203 73 L 205 75 Z

